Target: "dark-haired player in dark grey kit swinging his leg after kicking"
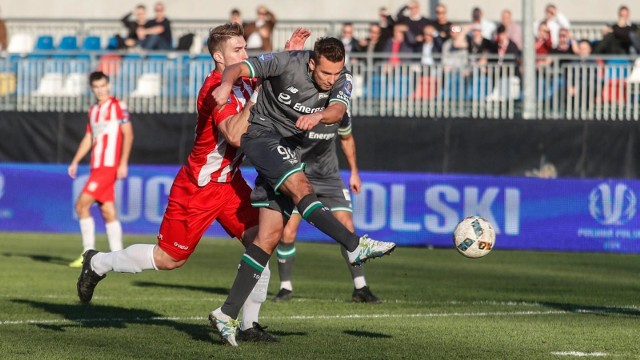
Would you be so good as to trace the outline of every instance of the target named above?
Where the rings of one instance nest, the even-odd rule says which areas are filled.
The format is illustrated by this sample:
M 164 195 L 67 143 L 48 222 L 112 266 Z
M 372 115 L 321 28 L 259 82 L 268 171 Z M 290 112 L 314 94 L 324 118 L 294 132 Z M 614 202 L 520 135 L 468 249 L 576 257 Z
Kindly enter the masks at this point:
M 222 83 L 212 93 L 217 104 L 225 106 L 241 77 L 257 76 L 263 82 L 258 97 L 262 106 L 252 108 L 249 129 L 240 142 L 258 172 L 251 193 L 252 205 L 260 208 L 258 234 L 240 260 L 225 303 L 210 315 L 230 344 L 235 344 L 234 319 L 267 266 L 294 207 L 302 218 L 339 242 L 353 266 L 390 254 L 396 247 L 345 227 L 318 200 L 304 174 L 300 146 L 306 131 L 339 122 L 349 105 L 353 84 L 344 58 L 342 41 L 320 38 L 313 51 L 267 53 L 225 68 Z

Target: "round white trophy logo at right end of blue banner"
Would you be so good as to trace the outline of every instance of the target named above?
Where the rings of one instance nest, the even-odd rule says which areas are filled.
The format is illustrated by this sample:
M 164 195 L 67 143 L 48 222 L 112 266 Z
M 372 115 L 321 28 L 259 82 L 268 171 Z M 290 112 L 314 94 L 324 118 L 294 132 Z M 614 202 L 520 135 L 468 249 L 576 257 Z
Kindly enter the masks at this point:
M 627 185 L 602 183 L 589 194 L 589 212 L 602 225 L 622 225 L 636 215 L 636 194 Z

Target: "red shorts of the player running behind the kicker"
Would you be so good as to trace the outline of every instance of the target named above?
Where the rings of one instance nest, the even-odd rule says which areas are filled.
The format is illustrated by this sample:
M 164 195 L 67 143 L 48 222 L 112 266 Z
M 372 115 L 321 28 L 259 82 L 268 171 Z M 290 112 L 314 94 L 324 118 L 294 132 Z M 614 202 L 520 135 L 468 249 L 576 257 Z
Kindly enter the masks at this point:
M 258 209 L 251 206 L 251 188 L 242 176 L 230 183 L 194 184 L 184 167 L 173 181 L 158 246 L 176 260 L 187 259 L 211 224 L 218 220 L 232 237 L 258 225 Z

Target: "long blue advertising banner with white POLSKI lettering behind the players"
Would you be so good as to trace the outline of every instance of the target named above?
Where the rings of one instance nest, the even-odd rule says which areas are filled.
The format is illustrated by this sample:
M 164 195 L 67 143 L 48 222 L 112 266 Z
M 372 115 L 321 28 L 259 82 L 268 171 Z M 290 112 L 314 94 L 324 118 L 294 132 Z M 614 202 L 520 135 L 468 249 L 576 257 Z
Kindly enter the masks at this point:
M 178 166 L 129 168 L 116 189 L 125 234 L 155 236 L 177 171 Z M 253 184 L 255 171 L 242 171 Z M 73 204 L 88 168 L 79 173 L 71 179 L 66 165 L 0 164 L 0 231 L 79 232 Z M 637 180 L 391 172 L 361 177 L 362 192 L 352 197 L 354 223 L 358 233 L 375 239 L 450 247 L 456 224 L 480 215 L 496 229 L 496 249 L 640 252 Z M 227 236 L 217 224 L 207 235 Z M 332 241 L 307 224 L 298 238 Z

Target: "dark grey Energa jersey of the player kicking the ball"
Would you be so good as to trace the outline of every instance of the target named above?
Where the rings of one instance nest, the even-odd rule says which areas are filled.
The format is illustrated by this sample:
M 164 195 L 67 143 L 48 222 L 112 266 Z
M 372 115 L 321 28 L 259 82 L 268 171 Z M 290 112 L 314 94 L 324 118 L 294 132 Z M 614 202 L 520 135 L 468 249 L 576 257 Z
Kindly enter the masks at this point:
M 296 128 L 298 117 L 324 110 L 339 101 L 349 107 L 353 80 L 346 68 L 330 91 L 319 90 L 311 79 L 312 51 L 266 53 L 245 60 L 251 77 L 262 79 L 258 102 L 251 109 L 251 124 L 274 129 L 297 144 L 304 132 Z

